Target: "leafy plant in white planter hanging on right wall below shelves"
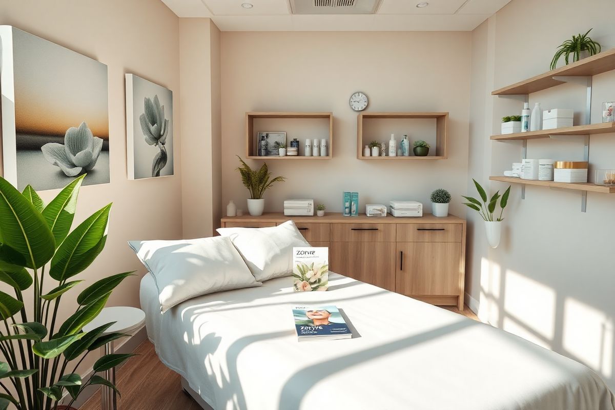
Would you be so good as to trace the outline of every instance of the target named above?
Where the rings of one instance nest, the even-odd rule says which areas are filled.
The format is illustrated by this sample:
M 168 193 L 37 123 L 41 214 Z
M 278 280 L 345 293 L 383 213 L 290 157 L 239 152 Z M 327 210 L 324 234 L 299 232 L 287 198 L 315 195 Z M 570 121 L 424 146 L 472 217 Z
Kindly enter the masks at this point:
M 485 229 L 487 232 L 487 241 L 489 242 L 489 245 L 491 245 L 491 248 L 497 248 L 502 232 L 502 224 L 500 222 L 504 221 L 504 218 L 502 218 L 502 214 L 504 213 L 504 208 L 506 208 L 506 205 L 508 204 L 510 185 L 506 189 L 506 191 L 504 191 L 504 194 L 500 195 L 498 191 L 493 194 L 489 201 L 487 201 L 487 193 L 485 192 L 485 189 L 483 189 L 483 187 L 480 186 L 480 184 L 477 183 L 475 179 L 472 179 L 472 181 L 474 181 L 474 186 L 476 186 L 478 195 L 480 195 L 480 200 L 473 197 L 464 196 L 464 198 L 468 201 L 464 202 L 464 205 L 466 205 L 470 209 L 477 211 L 478 215 L 483 218 L 483 220 L 485 221 Z M 496 218 L 494 216 L 494 213 L 496 213 L 496 208 L 498 207 L 498 200 L 499 207 L 501 209 L 499 213 L 500 215 Z

